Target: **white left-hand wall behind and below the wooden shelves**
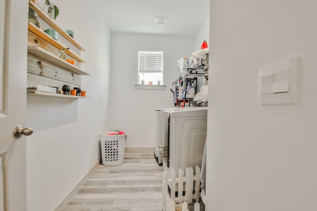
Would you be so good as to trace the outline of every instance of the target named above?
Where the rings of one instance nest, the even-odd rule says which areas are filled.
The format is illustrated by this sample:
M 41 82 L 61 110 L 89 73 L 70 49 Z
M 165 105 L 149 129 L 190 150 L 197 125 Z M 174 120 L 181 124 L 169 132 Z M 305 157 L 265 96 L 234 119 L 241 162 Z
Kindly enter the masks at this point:
M 86 51 L 82 90 L 90 99 L 28 96 L 27 194 L 29 211 L 53 210 L 100 157 L 98 134 L 107 129 L 110 33 L 98 5 L 54 0 L 56 23 L 74 31 Z M 100 104 L 103 97 L 104 104 Z

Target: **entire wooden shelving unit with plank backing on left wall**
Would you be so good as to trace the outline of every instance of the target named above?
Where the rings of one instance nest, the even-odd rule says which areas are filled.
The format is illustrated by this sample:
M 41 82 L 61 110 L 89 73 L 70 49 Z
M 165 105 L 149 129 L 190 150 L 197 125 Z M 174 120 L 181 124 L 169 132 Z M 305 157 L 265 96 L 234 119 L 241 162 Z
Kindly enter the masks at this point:
M 72 86 L 80 87 L 81 75 L 90 75 L 81 68 L 77 67 L 78 64 L 84 63 L 81 59 L 80 53 L 85 50 L 80 46 L 72 37 L 64 30 L 57 26 L 55 20 L 51 19 L 42 9 L 37 6 L 32 0 L 29 0 L 29 8 L 33 9 L 40 17 L 40 27 L 35 26 L 33 23 L 28 23 L 28 82 L 32 84 L 71 84 Z M 55 40 L 48 35 L 44 30 L 53 29 L 59 35 L 59 39 Z M 66 49 L 68 48 L 68 49 Z M 62 49 L 67 56 L 75 60 L 75 64 L 68 63 L 64 59 L 59 58 L 59 53 Z M 39 61 L 45 65 L 45 73 L 38 69 Z M 42 69 L 42 67 L 40 67 Z M 31 76 L 29 78 L 29 76 Z M 28 95 L 46 96 L 46 97 L 59 97 L 68 99 L 87 99 L 90 97 L 57 94 L 36 89 L 28 89 Z

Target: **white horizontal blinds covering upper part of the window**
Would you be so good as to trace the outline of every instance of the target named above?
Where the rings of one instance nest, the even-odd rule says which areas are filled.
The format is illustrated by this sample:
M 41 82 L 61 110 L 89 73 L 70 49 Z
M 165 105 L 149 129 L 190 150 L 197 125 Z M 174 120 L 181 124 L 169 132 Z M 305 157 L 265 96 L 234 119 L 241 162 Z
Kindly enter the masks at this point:
M 163 51 L 139 51 L 139 73 L 162 73 Z

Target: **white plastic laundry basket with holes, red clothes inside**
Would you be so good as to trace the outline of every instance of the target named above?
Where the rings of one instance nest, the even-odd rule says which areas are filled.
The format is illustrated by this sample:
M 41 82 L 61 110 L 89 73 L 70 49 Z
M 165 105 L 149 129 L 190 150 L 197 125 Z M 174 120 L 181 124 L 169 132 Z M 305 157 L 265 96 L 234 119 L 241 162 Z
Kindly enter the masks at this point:
M 103 132 L 99 134 L 101 145 L 101 158 L 103 165 L 115 166 L 124 161 L 124 147 L 127 133 L 109 135 L 116 132 Z

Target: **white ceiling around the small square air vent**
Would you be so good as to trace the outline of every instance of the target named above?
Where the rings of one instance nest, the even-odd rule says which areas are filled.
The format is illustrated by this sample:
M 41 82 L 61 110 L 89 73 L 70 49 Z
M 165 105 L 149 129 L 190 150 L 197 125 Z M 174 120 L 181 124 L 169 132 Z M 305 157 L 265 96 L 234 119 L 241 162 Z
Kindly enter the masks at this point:
M 95 1 L 96 2 L 96 1 Z M 113 33 L 194 36 L 209 17 L 210 0 L 97 0 Z M 154 17 L 167 17 L 155 25 Z

